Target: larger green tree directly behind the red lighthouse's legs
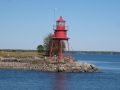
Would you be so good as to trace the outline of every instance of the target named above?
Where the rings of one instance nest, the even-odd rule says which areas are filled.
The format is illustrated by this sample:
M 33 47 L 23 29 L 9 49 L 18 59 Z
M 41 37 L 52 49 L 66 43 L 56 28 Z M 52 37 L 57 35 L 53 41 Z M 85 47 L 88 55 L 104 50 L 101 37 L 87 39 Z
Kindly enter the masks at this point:
M 49 33 L 43 40 L 43 42 L 44 42 L 43 46 L 45 48 L 46 54 L 48 54 L 48 55 L 50 53 L 50 48 L 52 46 L 52 36 L 53 36 L 53 34 Z M 54 47 L 52 49 L 53 55 L 58 55 L 59 47 L 60 47 L 59 40 L 55 40 L 54 41 Z M 65 51 L 65 42 L 64 41 L 62 41 L 62 51 L 63 52 Z

